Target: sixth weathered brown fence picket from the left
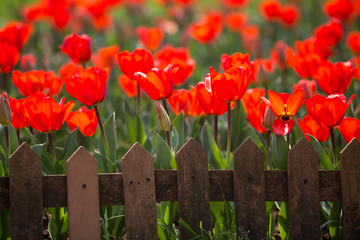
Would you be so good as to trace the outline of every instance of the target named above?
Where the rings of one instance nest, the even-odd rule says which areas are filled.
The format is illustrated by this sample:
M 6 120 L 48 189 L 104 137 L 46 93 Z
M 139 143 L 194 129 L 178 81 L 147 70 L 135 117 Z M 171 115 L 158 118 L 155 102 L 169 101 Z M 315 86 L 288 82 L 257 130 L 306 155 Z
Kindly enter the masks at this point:
M 317 152 L 301 138 L 288 153 L 290 239 L 320 239 Z

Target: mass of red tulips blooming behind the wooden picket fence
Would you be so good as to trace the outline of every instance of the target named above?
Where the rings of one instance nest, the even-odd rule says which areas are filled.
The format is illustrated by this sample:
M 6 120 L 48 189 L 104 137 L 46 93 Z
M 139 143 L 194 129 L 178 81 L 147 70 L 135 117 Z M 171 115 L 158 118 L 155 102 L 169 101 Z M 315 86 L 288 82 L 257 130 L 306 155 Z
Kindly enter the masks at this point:
M 168 18 L 158 19 L 154 24 L 156 27 L 139 25 L 129 30 L 125 24 L 118 24 L 116 17 L 110 14 L 110 11 L 122 7 L 131 14 L 143 13 L 148 7 L 146 4 L 165 9 Z M 276 152 L 270 142 L 272 133 L 275 140 L 286 142 L 287 150 L 301 136 L 312 144 L 317 142 L 315 144 L 319 146 L 319 142 L 327 142 L 331 136 L 331 168 L 338 169 L 336 144 L 340 145 L 343 140 L 339 142 L 336 138 L 336 129 L 346 143 L 354 137 L 360 138 L 360 106 L 354 107 L 359 102 L 352 94 L 359 89 L 359 83 L 352 83 L 352 79 L 360 79 L 360 32 L 350 31 L 356 28 L 354 22 L 359 17 L 359 2 L 331 0 L 324 3 L 322 9 L 327 22 L 311 28 L 312 34 L 309 36 L 306 33 L 308 38 L 296 40 L 293 47 L 277 39 L 277 36 L 281 31 L 298 31 L 297 25 L 302 19 L 298 1 L 261 1 L 256 11 L 265 20 L 264 32 L 261 25 L 252 22 L 243 11 L 251 5 L 250 1 L 222 0 L 216 3 L 222 10 L 207 11 L 194 20 L 198 4 L 202 6 L 196 0 L 157 0 L 155 3 L 142 0 L 43 0 L 22 6 L 22 21 L 6 23 L 0 29 L 0 123 L 4 127 L 7 158 L 11 153 L 8 127 L 12 125 L 17 133 L 18 145 L 22 140 L 29 142 L 27 136 L 33 138 L 39 133 L 47 134 L 53 162 L 57 162 L 52 133 L 60 130 L 66 121 L 70 131 L 78 129 L 89 138 L 96 136 L 99 128 L 103 145 L 92 146 L 93 149 L 89 150 L 97 151 L 94 148 L 99 148 L 107 159 L 117 162 L 112 159 L 117 158 L 117 145 L 115 143 L 115 149 L 111 146 L 114 139 L 109 139 L 106 123 L 101 120 L 101 115 L 109 111 L 101 112 L 100 108 L 110 106 L 118 109 L 114 107 L 117 105 L 114 97 L 111 102 L 104 101 L 108 81 L 112 81 L 118 66 L 122 74 L 116 77 L 115 82 L 126 95 L 122 96 L 122 101 L 136 99 L 133 109 L 137 110 L 134 113 L 137 117 L 129 118 L 136 124 L 127 120 L 126 126 L 136 127 L 131 130 L 136 132 L 136 140 L 151 153 L 158 154 L 156 144 L 152 142 L 155 150 L 149 150 L 141 134 L 152 135 L 159 130 L 152 121 L 144 124 L 145 118 L 153 117 L 149 117 L 153 100 L 157 101 L 159 126 L 166 134 L 170 152 L 175 151 L 172 141 L 179 142 L 178 132 L 184 135 L 180 145 L 184 144 L 191 132 L 189 126 L 193 129 L 191 136 L 199 140 L 197 132 L 204 131 L 202 126 L 208 126 L 203 121 L 206 119 L 213 123 L 213 132 L 210 131 L 210 136 L 206 135 L 214 139 L 215 147 L 211 148 L 225 152 L 222 146 L 225 145 L 224 129 L 227 130 L 225 167 L 221 169 L 232 168 L 231 150 L 235 146 L 231 141 L 235 140 L 238 144 L 237 140 L 243 137 L 234 134 L 243 132 L 260 139 L 263 143 L 258 145 L 267 153 Z M 50 23 L 55 36 L 60 36 L 63 31 L 72 34 L 65 38 L 61 35 L 62 44 L 56 45 L 55 51 L 46 50 L 44 46 L 42 67 L 36 70 L 39 69 L 39 56 L 33 54 L 35 50 L 27 43 L 37 36 L 40 31 L 37 24 L 41 22 Z M 97 52 L 94 52 L 92 43 L 101 42 L 111 30 L 110 26 L 121 30 L 124 39 L 133 34 L 140 46 L 130 45 L 134 50 L 121 51 L 130 48 L 120 48 L 124 39 L 116 39 L 118 44 L 97 47 Z M 96 36 L 77 34 L 84 32 L 86 27 L 98 31 L 101 40 L 95 40 Z M 222 35 L 226 31 L 228 35 L 240 36 L 240 40 L 230 48 L 231 54 L 224 53 L 228 50 L 221 51 L 223 54 L 220 56 L 217 55 L 218 48 L 224 44 Z M 163 44 L 174 42 L 171 41 L 174 35 L 176 43 Z M 273 40 L 269 51 L 264 50 L 267 43 L 261 41 L 262 35 Z M 129 46 L 127 44 L 131 41 L 125 42 L 123 45 Z M 238 45 L 243 51 L 236 48 Z M 25 53 L 24 49 L 30 50 L 29 53 Z M 204 49 L 205 55 L 198 54 Z M 62 60 L 66 56 L 70 60 L 64 63 Z M 52 57 L 56 64 L 59 62 L 62 65 L 53 67 L 56 64 L 49 60 Z M 58 70 L 58 73 L 51 69 Z M 113 88 L 112 84 L 111 94 L 115 91 Z M 320 94 L 318 88 L 321 89 Z M 348 94 L 347 97 L 344 94 Z M 20 95 L 23 98 L 19 98 Z M 74 101 L 65 102 L 64 95 L 70 95 Z M 145 102 L 147 109 L 144 108 Z M 76 111 L 75 105 L 79 106 Z M 231 115 L 232 112 L 235 114 Z M 173 131 L 173 124 L 177 121 L 172 117 L 174 115 L 182 116 L 183 121 L 177 123 L 176 133 Z M 222 115 L 227 116 L 227 122 L 222 121 Z M 245 116 L 247 122 L 244 125 Z M 239 130 L 240 127 L 244 128 Z M 28 131 L 21 134 L 25 128 Z M 236 129 L 235 133 L 232 128 Z M 130 132 L 129 129 L 127 131 Z M 151 137 L 146 136 L 148 138 Z M 128 139 L 119 140 L 115 136 L 115 141 L 126 142 Z M 126 147 L 130 145 L 122 144 Z M 222 153 L 216 156 L 222 157 Z M 275 159 L 271 161 L 270 156 L 267 158 L 267 169 L 281 168 Z M 120 167 L 117 168 L 120 170 Z

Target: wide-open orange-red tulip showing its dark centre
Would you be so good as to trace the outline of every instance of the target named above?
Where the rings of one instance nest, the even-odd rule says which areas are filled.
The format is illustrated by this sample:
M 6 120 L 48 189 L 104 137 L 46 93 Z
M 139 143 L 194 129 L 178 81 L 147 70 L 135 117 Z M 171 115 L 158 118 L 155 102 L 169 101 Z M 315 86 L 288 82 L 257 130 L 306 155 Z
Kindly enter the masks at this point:
M 287 93 L 277 94 L 274 91 L 269 90 L 269 100 L 264 97 L 260 97 L 265 104 L 273 111 L 278 117 L 275 120 L 272 128 L 278 135 L 288 134 L 295 122 L 291 119 L 303 102 L 303 93 L 301 89 L 296 89 L 291 95 Z

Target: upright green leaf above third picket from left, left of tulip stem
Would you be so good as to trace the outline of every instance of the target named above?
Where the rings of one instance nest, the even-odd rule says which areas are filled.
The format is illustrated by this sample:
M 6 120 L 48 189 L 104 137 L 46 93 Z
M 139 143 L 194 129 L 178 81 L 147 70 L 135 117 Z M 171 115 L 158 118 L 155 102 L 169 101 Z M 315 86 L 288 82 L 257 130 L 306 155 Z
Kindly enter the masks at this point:
M 142 145 L 146 139 L 143 123 L 135 109 L 127 101 L 124 101 L 124 113 L 126 129 L 131 144 L 139 142 Z

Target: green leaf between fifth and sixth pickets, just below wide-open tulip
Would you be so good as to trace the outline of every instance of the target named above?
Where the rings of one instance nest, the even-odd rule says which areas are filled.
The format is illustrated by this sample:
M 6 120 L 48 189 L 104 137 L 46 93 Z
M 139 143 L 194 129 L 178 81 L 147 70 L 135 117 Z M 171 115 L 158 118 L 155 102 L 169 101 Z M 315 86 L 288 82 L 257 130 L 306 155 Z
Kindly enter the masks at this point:
M 271 138 L 271 149 L 276 167 L 280 170 L 287 170 L 287 154 L 289 146 L 285 138 L 273 134 Z

